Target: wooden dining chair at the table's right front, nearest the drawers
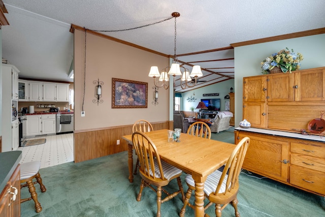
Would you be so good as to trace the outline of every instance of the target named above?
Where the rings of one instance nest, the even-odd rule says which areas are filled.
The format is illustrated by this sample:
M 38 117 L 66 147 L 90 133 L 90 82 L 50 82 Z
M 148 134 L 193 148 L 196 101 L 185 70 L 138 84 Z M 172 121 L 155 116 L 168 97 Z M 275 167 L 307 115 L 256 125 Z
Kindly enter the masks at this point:
M 209 200 L 204 206 L 204 210 L 215 204 L 215 215 L 221 217 L 221 211 L 229 203 L 235 209 L 235 216 L 240 217 L 237 204 L 237 193 L 239 190 L 239 174 L 243 165 L 245 154 L 249 145 L 250 139 L 248 137 L 243 138 L 236 146 L 232 154 L 230 155 L 228 162 L 225 164 L 223 171 L 215 170 L 208 175 L 204 182 L 204 195 Z M 186 192 L 183 208 L 181 209 L 179 216 L 185 215 L 185 208 L 188 205 L 194 208 L 189 203 L 192 191 L 195 190 L 195 183 L 191 175 L 185 177 L 188 190 Z M 205 216 L 209 216 L 205 213 Z

